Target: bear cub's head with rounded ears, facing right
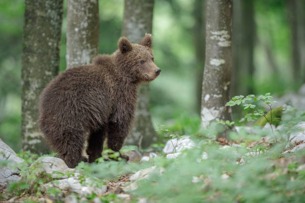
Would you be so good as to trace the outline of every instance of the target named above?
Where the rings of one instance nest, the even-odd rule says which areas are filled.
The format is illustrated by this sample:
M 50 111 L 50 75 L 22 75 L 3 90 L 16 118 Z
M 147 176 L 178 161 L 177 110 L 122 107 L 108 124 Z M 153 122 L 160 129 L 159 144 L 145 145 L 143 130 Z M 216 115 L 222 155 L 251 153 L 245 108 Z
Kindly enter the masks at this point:
M 132 81 L 150 82 L 160 74 L 161 70 L 153 61 L 151 34 L 145 34 L 140 44 L 132 44 L 126 37 L 121 37 L 118 46 L 119 68 Z

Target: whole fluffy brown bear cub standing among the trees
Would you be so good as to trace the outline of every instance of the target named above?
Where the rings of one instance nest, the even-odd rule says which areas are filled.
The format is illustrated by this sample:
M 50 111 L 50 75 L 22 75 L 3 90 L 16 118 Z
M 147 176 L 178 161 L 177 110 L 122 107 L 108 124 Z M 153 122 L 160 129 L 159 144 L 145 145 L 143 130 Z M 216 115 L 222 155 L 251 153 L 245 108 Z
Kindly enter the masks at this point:
M 121 37 L 118 46 L 112 55 L 99 55 L 90 65 L 64 71 L 41 93 L 40 129 L 70 168 L 99 158 L 106 137 L 110 149 L 122 148 L 134 117 L 138 85 L 160 73 L 153 62 L 151 34 L 140 44 Z

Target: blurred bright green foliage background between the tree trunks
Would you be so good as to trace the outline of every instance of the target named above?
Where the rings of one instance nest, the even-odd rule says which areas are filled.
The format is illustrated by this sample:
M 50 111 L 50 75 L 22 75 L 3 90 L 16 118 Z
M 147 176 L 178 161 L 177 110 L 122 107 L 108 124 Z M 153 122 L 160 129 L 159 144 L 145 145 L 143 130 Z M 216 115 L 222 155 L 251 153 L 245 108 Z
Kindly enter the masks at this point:
M 60 49 L 60 71 L 66 68 L 66 1 Z M 111 54 L 121 36 L 124 0 L 99 0 L 100 53 Z M 162 73 L 151 83 L 154 126 L 186 119 L 199 124 L 194 70 L 195 0 L 155 0 L 153 51 Z M 24 1 L 0 1 L 0 138 L 15 151 L 21 149 L 20 70 Z M 253 94 L 283 95 L 297 90 L 291 71 L 291 29 L 286 0 L 255 0 Z M 274 72 L 264 51 L 268 42 L 275 59 Z M 233 42 L 234 43 L 234 42 Z M 203 66 L 202 73 L 203 73 Z M 156 127 L 157 128 L 157 127 Z

